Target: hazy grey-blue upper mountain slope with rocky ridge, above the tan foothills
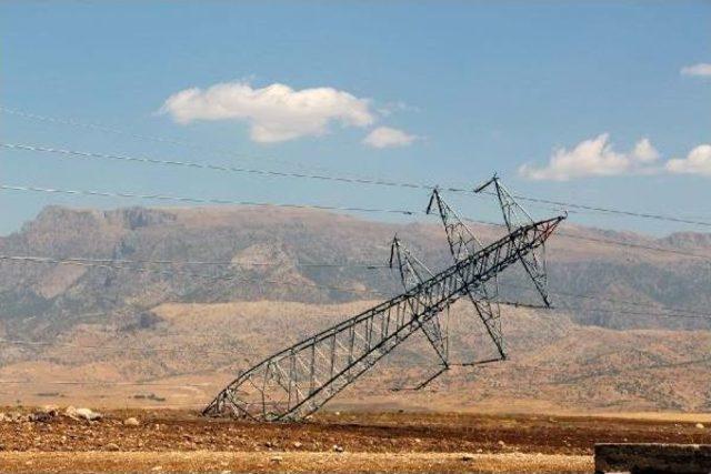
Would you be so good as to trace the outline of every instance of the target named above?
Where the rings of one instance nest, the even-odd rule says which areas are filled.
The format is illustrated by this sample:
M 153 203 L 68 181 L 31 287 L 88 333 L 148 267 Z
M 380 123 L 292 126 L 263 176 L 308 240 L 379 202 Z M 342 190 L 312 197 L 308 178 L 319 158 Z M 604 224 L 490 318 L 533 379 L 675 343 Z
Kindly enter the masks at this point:
M 487 226 L 474 230 L 484 241 L 498 235 L 498 230 Z M 298 263 L 385 264 L 395 232 L 432 269 L 449 265 L 451 258 L 443 233 L 434 223 L 378 223 L 319 211 L 271 208 L 94 211 L 51 206 L 20 232 L 0 239 L 0 253 L 232 263 L 124 263 L 97 268 L 3 261 L 0 321 L 11 335 L 49 337 L 82 321 L 110 317 L 129 324 L 146 310 L 168 301 L 329 303 L 373 297 L 368 292 L 391 294 L 399 286 L 387 269 Z M 549 245 L 550 282 L 557 305 L 581 309 L 572 311 L 574 321 L 605 327 L 709 327 L 708 321 L 700 319 L 627 314 L 659 312 L 653 306 L 662 305 L 703 311 L 711 303 L 707 260 L 569 238 L 614 239 L 711 255 L 708 235 L 675 234 L 652 240 L 571 225 L 564 228 L 564 234 L 553 236 Z M 520 271 L 507 272 L 502 291 L 510 297 L 537 302 Z M 641 305 L 570 299 L 565 293 Z M 594 312 L 592 307 L 622 307 L 627 313 Z

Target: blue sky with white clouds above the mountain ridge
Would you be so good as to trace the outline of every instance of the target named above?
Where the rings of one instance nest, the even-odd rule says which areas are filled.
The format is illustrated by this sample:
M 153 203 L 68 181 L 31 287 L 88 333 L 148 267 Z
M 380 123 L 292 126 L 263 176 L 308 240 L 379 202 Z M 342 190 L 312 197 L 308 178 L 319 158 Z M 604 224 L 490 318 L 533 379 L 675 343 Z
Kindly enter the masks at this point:
M 523 195 L 711 221 L 709 1 L 4 0 L 0 58 L 4 145 L 442 186 L 497 172 Z M 0 167 L 10 186 L 412 210 L 428 200 L 7 147 Z M 480 196 L 450 200 L 497 218 Z M 3 190 L 0 234 L 48 204 L 171 202 Z

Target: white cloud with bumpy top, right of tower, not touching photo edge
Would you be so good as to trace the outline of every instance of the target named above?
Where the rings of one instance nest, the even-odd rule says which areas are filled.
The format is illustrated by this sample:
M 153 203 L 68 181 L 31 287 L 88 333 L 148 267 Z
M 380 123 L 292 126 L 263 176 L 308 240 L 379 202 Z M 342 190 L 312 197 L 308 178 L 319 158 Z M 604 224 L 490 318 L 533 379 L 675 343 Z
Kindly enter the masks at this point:
M 659 152 L 648 139 L 641 139 L 628 153 L 617 152 L 609 133 L 578 143 L 572 150 L 555 150 L 548 165 L 523 164 L 519 173 L 531 180 L 568 181 L 583 177 L 612 177 L 627 173 L 651 173 Z

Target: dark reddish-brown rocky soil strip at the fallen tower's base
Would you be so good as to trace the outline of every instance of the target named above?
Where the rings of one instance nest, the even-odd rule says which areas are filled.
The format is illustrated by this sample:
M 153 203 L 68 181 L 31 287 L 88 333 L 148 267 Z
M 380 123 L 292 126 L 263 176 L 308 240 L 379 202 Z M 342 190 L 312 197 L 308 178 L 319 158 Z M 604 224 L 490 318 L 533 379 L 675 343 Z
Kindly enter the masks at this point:
M 192 411 L 4 409 L 2 451 L 543 453 L 600 442 L 711 443 L 694 421 L 533 415 L 323 413 L 303 423 L 206 418 Z

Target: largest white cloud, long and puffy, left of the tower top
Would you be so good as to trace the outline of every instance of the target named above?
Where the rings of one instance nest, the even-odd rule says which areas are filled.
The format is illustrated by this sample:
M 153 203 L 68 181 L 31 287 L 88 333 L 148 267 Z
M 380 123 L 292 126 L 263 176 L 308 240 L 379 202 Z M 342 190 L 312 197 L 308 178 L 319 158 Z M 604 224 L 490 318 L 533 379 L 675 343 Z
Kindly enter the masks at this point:
M 333 88 L 296 91 L 280 83 L 261 89 L 247 82 L 186 89 L 169 97 L 161 111 L 178 123 L 244 121 L 250 124 L 251 139 L 262 143 L 321 135 L 331 122 L 368 127 L 375 121 L 367 99 Z

